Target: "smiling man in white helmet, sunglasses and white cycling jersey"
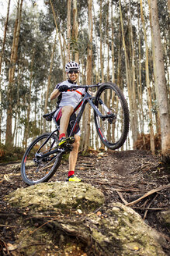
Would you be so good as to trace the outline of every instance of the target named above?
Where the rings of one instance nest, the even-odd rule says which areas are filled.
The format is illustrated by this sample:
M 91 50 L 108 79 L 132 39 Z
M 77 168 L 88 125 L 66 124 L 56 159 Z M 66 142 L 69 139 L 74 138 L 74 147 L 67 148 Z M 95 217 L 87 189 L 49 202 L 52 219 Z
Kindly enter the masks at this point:
M 69 171 L 67 181 L 80 182 L 78 177 L 75 176 L 75 165 L 78 158 L 78 148 L 80 144 L 80 128 L 76 130 L 75 137 L 66 137 L 69 129 L 69 121 L 75 118 L 72 115 L 74 108 L 84 94 L 84 89 L 78 88 L 76 91 L 68 91 L 69 87 L 76 85 L 79 73 L 79 65 L 77 62 L 68 62 L 65 66 L 65 71 L 68 75 L 68 80 L 57 84 L 54 91 L 50 94 L 50 100 L 58 99 L 57 106 L 59 107 L 56 112 L 56 120 L 60 120 L 60 132 L 58 146 L 64 147 L 64 144 L 72 144 L 73 150 L 69 155 Z M 72 116 L 71 116 L 72 115 Z

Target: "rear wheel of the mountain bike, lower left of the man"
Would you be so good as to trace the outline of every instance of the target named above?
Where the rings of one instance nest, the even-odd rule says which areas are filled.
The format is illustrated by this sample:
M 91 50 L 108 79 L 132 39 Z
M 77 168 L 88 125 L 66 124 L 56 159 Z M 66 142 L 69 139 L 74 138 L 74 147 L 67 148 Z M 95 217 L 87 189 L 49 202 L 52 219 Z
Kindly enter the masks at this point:
M 43 183 L 50 180 L 61 164 L 62 154 L 58 152 L 46 158 L 38 159 L 35 156 L 37 149 L 40 148 L 40 145 L 49 136 L 50 133 L 43 133 L 39 137 L 36 137 L 23 155 L 21 162 L 21 176 L 23 181 L 28 185 Z M 50 140 L 43 145 L 39 154 L 43 153 L 43 151 L 48 152 L 54 149 L 57 145 L 57 141 L 57 135 L 53 134 Z M 54 146 L 54 148 L 51 148 L 51 145 Z M 53 165 L 51 166 L 50 163 Z

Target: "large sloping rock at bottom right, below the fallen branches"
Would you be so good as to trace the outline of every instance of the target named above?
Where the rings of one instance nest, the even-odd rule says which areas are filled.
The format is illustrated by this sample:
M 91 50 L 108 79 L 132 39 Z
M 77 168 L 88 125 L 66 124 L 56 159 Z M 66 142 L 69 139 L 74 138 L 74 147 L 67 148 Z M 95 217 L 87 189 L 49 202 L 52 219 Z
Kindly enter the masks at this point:
M 161 236 L 133 209 L 113 203 L 109 204 L 106 215 L 106 218 L 98 219 L 97 229 L 92 230 L 94 240 L 106 255 L 165 255 L 160 246 L 164 242 Z M 95 215 L 92 217 L 97 220 Z

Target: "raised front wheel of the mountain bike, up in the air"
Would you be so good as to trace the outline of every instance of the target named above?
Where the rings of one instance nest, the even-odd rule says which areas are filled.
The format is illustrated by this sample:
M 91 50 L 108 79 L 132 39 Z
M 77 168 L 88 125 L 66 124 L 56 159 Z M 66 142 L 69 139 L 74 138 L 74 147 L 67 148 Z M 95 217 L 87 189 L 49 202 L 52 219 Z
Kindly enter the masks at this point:
M 101 100 L 109 112 L 103 109 Z M 106 119 L 101 119 L 94 111 L 95 127 L 100 140 L 112 150 L 122 147 L 129 132 L 129 109 L 123 92 L 116 84 L 102 84 L 95 94 L 95 105 L 103 116 L 107 116 Z

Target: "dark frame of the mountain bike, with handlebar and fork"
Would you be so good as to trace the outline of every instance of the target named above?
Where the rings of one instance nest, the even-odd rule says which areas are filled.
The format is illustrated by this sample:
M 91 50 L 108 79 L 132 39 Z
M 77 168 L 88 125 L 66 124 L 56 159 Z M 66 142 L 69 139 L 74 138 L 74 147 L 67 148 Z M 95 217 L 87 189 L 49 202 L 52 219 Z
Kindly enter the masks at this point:
M 99 109 L 98 109 L 98 108 L 95 106 L 95 104 L 93 103 L 93 99 L 94 99 L 95 97 L 92 97 L 92 95 L 88 93 L 88 89 L 89 89 L 89 88 L 91 88 L 91 87 L 100 87 L 100 85 L 101 85 L 101 84 L 95 84 L 95 85 L 89 85 L 89 86 L 80 86 L 80 88 L 83 88 L 83 87 L 85 88 L 85 96 L 84 96 L 84 97 L 82 98 L 82 100 L 78 103 L 78 105 L 74 108 L 73 114 L 78 110 L 78 108 L 81 107 L 81 108 L 80 108 L 80 111 L 78 112 L 78 116 L 77 116 L 76 119 L 75 119 L 75 123 L 74 123 L 74 125 L 73 125 L 73 127 L 72 127 L 72 129 L 71 129 L 71 132 L 70 132 L 70 134 L 68 135 L 68 137 L 73 137 L 73 136 L 75 135 L 76 127 L 78 126 L 78 124 L 79 124 L 79 122 L 80 122 L 80 120 L 81 120 L 81 118 L 82 118 L 82 114 L 83 114 L 83 112 L 84 112 L 84 110 L 85 110 L 85 105 L 86 105 L 87 103 L 89 103 L 89 104 L 91 105 L 91 107 L 95 110 L 95 112 L 97 113 L 97 115 L 98 115 L 100 118 L 102 118 L 102 119 L 106 118 L 106 116 L 102 116 L 102 113 L 99 112 Z M 76 87 L 78 88 L 78 86 L 71 87 L 71 88 L 76 88 Z M 101 101 L 101 103 L 102 103 L 102 101 Z M 55 112 L 55 111 L 54 111 L 54 112 Z M 50 137 L 52 137 L 54 133 L 56 133 L 56 132 L 59 131 L 60 126 L 57 125 L 57 121 L 56 121 L 56 119 L 55 119 L 55 117 L 54 117 L 54 114 L 52 115 L 52 119 L 54 119 L 54 123 L 56 124 L 57 129 L 54 130 L 52 133 L 50 133 L 50 136 L 47 137 L 47 139 L 46 139 L 46 140 L 43 142 L 43 144 L 40 146 L 39 150 L 36 152 L 36 155 L 35 155 L 35 156 L 38 157 L 38 158 L 45 158 L 45 157 L 47 157 L 47 156 L 49 156 L 49 155 L 52 155 L 52 154 L 54 154 L 54 153 L 57 153 L 57 152 L 61 152 L 61 154 L 63 154 L 63 153 L 65 152 L 65 149 L 56 148 L 56 149 L 51 150 L 50 152 L 45 153 L 45 154 L 43 154 L 43 155 L 40 155 L 40 154 L 39 154 L 39 151 L 40 151 L 41 148 L 43 148 L 43 145 L 46 144 L 48 140 L 50 140 Z M 53 146 L 53 145 L 52 145 L 52 146 Z

